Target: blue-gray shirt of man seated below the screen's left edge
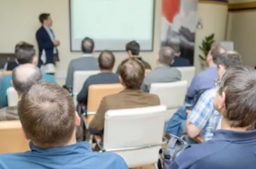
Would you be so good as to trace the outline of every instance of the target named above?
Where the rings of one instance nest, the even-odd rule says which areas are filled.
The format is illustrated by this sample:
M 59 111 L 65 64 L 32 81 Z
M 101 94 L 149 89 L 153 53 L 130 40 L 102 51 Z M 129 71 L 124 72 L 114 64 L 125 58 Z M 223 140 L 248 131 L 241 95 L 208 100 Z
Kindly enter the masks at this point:
M 78 70 L 99 70 L 98 59 L 93 57 L 92 54 L 84 54 L 79 59 L 73 59 L 67 70 L 66 86 L 73 87 L 73 72 Z

